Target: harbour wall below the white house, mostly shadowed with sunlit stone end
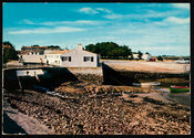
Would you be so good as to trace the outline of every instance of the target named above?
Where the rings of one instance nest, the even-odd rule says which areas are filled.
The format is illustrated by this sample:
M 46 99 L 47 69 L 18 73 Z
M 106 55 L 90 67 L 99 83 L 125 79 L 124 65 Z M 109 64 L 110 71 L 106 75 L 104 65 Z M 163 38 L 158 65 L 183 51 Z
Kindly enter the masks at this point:
M 34 76 L 34 71 L 38 68 L 8 68 L 3 70 L 3 87 L 8 89 L 20 88 L 19 79 L 23 88 L 30 88 L 32 85 L 38 84 L 45 87 L 55 87 L 64 82 L 82 81 L 93 84 L 102 84 L 103 74 L 102 67 L 40 67 L 41 74 Z M 27 74 L 19 75 L 17 72 L 29 72 Z M 30 74 L 32 72 L 32 74 Z

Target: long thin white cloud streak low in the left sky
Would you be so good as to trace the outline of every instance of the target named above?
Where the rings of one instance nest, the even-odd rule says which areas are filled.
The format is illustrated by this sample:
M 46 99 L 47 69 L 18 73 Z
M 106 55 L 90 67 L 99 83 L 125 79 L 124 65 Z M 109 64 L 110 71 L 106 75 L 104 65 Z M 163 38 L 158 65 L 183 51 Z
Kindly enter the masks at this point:
M 19 31 L 9 31 L 9 34 L 34 34 L 34 33 L 65 33 L 65 32 L 81 32 L 85 31 L 85 29 L 80 28 L 68 28 L 68 26 L 57 26 L 53 29 L 39 28 L 39 29 L 27 29 Z

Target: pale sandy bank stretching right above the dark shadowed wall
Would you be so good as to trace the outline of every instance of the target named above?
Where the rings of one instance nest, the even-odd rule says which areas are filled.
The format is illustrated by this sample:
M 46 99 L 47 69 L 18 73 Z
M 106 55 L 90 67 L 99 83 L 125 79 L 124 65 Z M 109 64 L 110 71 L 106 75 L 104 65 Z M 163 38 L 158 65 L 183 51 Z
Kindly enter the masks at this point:
M 135 61 L 103 61 L 114 70 L 152 72 L 152 73 L 184 73 L 190 71 L 190 64 L 175 62 L 135 62 Z

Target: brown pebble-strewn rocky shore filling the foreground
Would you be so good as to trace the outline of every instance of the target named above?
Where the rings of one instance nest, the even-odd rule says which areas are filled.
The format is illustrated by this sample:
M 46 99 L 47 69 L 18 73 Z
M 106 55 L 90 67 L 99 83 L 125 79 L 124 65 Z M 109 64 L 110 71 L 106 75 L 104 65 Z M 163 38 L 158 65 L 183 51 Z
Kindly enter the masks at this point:
M 64 83 L 55 88 L 65 97 L 12 91 L 6 92 L 4 98 L 12 108 L 38 119 L 58 135 L 191 134 L 190 107 L 130 91 L 74 85 Z M 79 88 L 82 93 L 75 93 Z

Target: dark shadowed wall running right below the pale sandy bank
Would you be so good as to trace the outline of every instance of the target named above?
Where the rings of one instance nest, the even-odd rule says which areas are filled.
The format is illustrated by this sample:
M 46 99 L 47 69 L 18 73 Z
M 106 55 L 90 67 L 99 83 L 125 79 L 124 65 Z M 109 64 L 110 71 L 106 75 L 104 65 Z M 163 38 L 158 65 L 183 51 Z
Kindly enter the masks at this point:
M 190 79 L 188 73 L 171 74 L 171 73 L 149 73 L 113 70 L 106 64 L 103 64 L 104 85 L 133 85 L 141 81 L 155 81 L 161 78 L 184 78 Z

